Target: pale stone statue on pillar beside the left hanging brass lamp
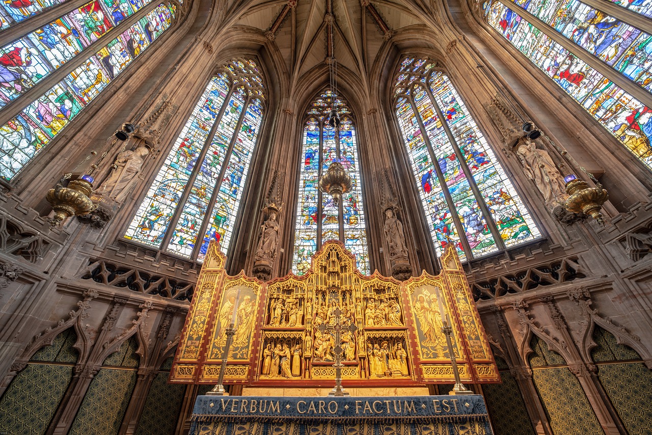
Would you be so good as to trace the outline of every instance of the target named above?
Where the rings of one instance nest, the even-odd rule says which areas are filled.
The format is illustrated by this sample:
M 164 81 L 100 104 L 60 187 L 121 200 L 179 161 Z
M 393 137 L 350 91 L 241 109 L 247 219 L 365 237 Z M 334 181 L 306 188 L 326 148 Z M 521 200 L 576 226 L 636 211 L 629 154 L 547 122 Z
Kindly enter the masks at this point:
M 123 202 L 129 190 L 138 181 L 137 177 L 149 154 L 149 148 L 141 145 L 134 151 L 123 151 L 115 158 L 111 174 L 102 183 L 100 192 L 116 202 Z

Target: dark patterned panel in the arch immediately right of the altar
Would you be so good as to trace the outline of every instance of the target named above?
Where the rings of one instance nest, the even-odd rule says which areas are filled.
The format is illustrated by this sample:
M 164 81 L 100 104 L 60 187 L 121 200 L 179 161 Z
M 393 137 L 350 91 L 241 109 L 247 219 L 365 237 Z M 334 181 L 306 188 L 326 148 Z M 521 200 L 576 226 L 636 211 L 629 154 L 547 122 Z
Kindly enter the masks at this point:
M 534 435 L 516 379 L 509 372 L 501 372 L 503 383 L 482 385 L 487 410 L 496 435 Z

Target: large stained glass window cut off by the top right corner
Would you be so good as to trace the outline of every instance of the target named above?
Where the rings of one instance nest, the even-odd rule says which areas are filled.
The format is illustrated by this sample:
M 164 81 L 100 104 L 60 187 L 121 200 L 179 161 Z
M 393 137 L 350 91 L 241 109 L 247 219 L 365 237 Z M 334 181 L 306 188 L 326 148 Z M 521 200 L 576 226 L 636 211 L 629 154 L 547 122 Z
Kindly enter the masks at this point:
M 624 13 L 625 8 L 652 15 L 650 2 L 625 3 L 610 9 L 640 23 L 646 19 Z M 484 14 L 491 27 L 652 169 L 649 24 L 645 33 L 578 0 L 488 1 Z

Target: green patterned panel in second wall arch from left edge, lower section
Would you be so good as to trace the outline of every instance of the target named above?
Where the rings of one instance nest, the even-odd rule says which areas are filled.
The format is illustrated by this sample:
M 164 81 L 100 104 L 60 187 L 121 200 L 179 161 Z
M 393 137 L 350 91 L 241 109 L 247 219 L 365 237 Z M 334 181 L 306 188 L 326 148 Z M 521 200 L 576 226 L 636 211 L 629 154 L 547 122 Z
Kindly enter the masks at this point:
M 117 434 L 136 378 L 136 370 L 102 368 L 91 381 L 68 435 Z

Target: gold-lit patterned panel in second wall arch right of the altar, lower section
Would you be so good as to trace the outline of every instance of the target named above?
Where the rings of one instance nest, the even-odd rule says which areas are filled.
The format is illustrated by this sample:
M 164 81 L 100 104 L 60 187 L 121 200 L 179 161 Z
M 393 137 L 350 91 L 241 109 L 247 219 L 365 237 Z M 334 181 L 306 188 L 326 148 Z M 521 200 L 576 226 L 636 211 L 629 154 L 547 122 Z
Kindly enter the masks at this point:
M 566 367 L 533 370 L 532 380 L 556 435 L 604 433 L 580 381 Z

